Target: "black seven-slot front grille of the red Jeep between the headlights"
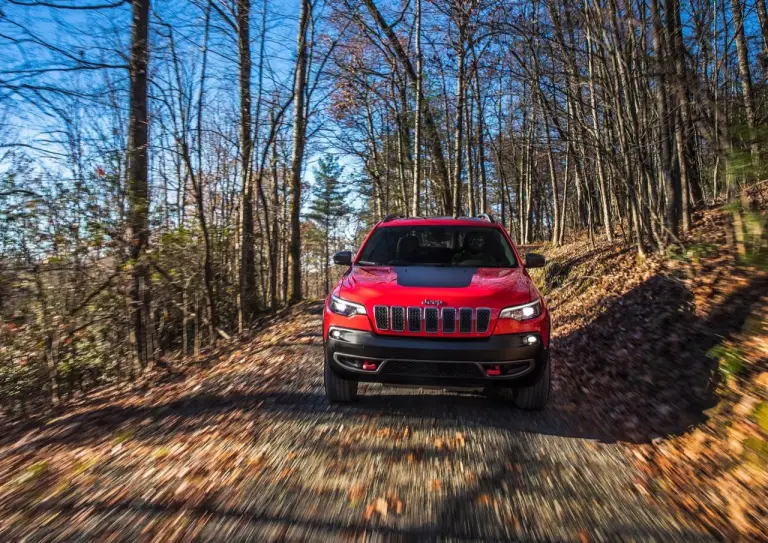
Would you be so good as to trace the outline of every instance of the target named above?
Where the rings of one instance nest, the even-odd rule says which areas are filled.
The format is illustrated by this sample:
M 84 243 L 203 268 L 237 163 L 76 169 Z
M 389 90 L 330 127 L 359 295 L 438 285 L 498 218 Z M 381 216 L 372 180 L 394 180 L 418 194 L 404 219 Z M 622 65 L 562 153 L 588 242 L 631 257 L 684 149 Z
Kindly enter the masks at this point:
M 373 319 L 379 331 L 485 334 L 491 327 L 491 310 L 471 307 L 389 307 L 373 308 Z

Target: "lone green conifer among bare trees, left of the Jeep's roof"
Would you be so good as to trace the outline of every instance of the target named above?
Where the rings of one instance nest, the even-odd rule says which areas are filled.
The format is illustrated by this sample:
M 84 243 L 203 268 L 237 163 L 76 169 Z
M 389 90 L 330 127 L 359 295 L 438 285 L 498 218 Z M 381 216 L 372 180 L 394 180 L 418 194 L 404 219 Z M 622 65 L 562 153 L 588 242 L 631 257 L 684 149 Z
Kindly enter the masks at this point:
M 338 159 L 333 155 L 322 157 L 314 169 L 315 182 L 312 187 L 312 202 L 307 218 L 313 221 L 323 232 L 323 249 L 325 252 L 325 264 L 323 265 L 323 279 L 325 291 L 330 289 L 328 278 L 328 264 L 330 262 L 331 238 L 338 228 L 339 221 L 350 211 L 347 204 L 349 190 L 341 182 L 344 171 L 339 165 Z

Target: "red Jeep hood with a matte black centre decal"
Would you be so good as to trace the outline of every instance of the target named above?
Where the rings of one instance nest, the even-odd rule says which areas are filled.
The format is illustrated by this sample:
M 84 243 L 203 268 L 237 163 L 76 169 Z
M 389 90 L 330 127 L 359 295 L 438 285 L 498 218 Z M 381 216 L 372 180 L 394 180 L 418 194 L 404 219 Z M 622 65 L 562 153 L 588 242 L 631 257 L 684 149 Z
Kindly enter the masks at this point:
M 538 293 L 522 268 L 353 266 L 339 296 L 375 305 L 487 307 L 502 309 L 534 300 Z

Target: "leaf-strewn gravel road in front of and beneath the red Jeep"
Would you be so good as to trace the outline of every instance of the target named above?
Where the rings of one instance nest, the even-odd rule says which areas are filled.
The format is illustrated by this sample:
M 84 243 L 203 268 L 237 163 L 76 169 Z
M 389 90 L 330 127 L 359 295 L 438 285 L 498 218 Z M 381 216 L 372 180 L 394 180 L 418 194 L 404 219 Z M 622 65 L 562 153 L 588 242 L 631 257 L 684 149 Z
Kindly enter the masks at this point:
M 94 398 L 0 449 L 0 540 L 701 541 L 555 397 L 322 388 L 318 307 L 210 368 Z M 554 360 L 557 372 L 557 360 Z

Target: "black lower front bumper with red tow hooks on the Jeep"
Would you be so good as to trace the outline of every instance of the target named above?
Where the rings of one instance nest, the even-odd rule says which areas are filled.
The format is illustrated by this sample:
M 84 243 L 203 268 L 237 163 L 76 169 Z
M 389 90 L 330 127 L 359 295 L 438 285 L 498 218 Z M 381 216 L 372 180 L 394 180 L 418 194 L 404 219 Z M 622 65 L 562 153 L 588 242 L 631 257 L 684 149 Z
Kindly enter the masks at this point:
M 526 342 L 532 335 L 537 337 L 533 345 Z M 397 337 L 333 327 L 325 358 L 334 373 L 355 381 L 519 387 L 535 381 L 546 365 L 549 350 L 542 339 L 536 333 L 472 339 Z

